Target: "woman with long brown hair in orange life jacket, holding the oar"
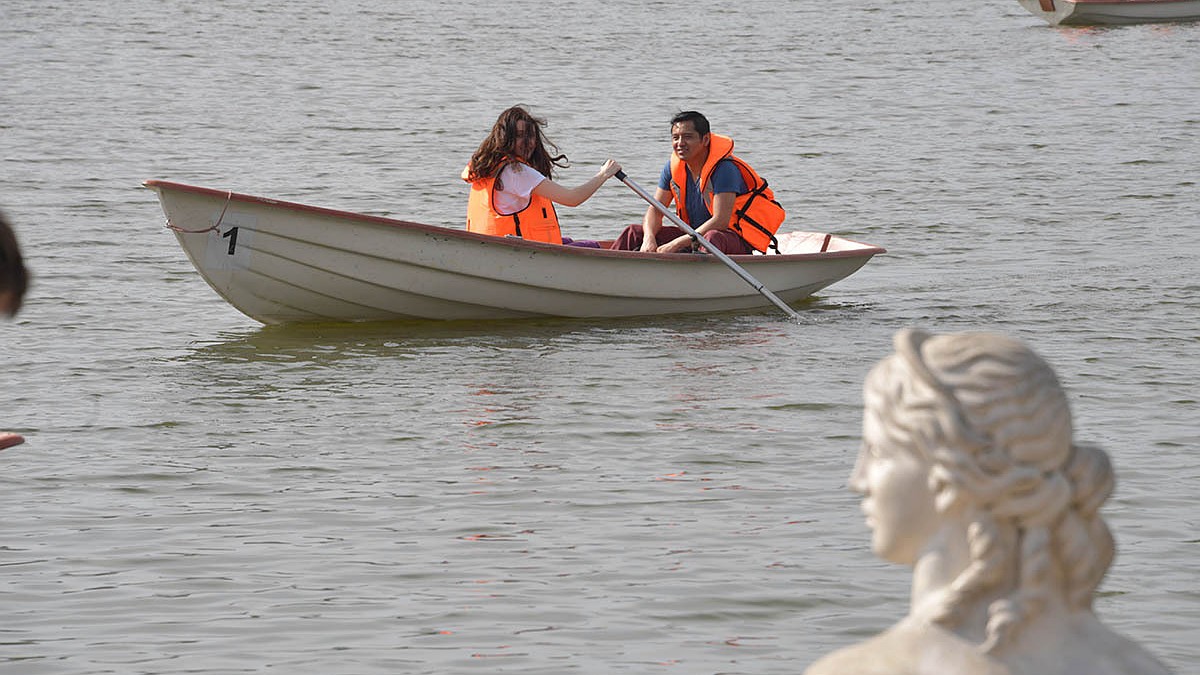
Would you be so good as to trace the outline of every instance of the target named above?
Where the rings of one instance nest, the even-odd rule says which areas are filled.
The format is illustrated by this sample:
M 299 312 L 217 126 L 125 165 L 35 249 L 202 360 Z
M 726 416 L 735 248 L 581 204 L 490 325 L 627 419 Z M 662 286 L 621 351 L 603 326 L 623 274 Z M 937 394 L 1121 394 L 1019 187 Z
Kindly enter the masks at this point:
M 545 125 L 546 120 L 524 106 L 514 106 L 497 118 L 462 174 L 470 184 L 467 229 L 563 244 L 554 204 L 582 204 L 620 171 L 620 165 L 608 160 L 583 185 L 554 183 L 554 168 L 565 168 L 569 162 L 546 138 Z

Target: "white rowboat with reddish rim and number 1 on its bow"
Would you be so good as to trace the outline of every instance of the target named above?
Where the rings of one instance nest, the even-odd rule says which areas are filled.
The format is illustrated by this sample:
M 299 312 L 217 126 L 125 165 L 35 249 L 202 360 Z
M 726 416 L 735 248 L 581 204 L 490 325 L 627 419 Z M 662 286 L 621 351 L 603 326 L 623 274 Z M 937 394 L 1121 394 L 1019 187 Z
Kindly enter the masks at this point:
M 769 307 L 712 255 L 559 246 L 148 180 L 200 276 L 263 323 L 630 317 Z M 823 233 L 731 256 L 785 303 L 884 250 Z

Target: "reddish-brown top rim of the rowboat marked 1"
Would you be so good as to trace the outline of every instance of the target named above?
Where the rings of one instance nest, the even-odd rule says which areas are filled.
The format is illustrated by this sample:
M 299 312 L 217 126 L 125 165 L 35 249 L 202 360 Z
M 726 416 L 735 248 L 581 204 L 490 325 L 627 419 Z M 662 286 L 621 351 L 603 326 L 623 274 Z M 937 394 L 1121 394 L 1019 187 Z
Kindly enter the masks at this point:
M 588 246 L 562 246 L 557 244 L 547 244 L 542 241 L 530 241 L 527 239 L 521 239 L 517 237 L 494 237 L 490 234 L 479 234 L 476 232 L 468 232 L 466 229 L 455 229 L 451 227 L 443 227 L 437 225 L 427 225 L 421 222 L 414 222 L 408 220 L 392 219 L 388 216 L 377 216 L 371 214 L 361 214 L 355 211 L 347 211 L 341 209 L 331 209 L 326 207 L 314 207 L 311 204 L 301 204 L 299 202 L 288 202 L 286 199 L 275 199 L 271 197 L 259 197 L 257 195 L 246 195 L 242 192 L 234 192 L 233 190 L 217 190 L 215 187 L 202 187 L 198 185 L 188 185 L 185 183 L 175 183 L 172 180 L 160 180 L 149 179 L 143 183 L 145 187 L 151 190 L 166 189 L 176 190 L 180 192 L 192 192 L 197 195 L 205 195 L 210 197 L 217 197 L 221 199 L 228 199 L 230 202 L 245 202 L 251 204 L 262 204 L 271 208 L 282 208 L 293 211 L 310 213 L 323 216 L 332 216 L 344 220 L 354 220 L 360 222 L 371 222 L 374 225 L 383 225 L 388 227 L 395 227 L 398 229 L 420 231 L 428 234 L 437 234 L 443 237 L 452 237 L 463 240 L 474 240 L 482 244 L 488 244 L 493 246 L 508 246 L 511 249 L 533 249 L 533 250 L 545 250 L 552 251 L 554 253 L 565 253 L 571 256 L 599 256 L 604 258 L 636 258 L 636 259 L 654 259 L 654 261 L 671 261 L 678 263 L 685 262 L 701 262 L 701 263 L 715 263 L 719 262 L 714 256 L 682 256 L 679 253 L 643 253 L 641 251 L 613 251 L 608 249 L 592 249 Z M 824 233 L 822 233 L 824 234 Z M 811 253 L 784 253 L 784 255 L 734 255 L 730 256 L 736 261 L 752 261 L 754 264 L 772 262 L 794 262 L 805 258 L 857 258 L 857 257 L 872 257 L 876 255 L 886 253 L 887 250 L 876 246 L 874 244 L 864 244 L 862 241 L 854 241 L 852 239 L 846 239 L 833 234 L 833 237 L 862 246 L 860 249 L 848 249 L 844 251 L 820 251 Z

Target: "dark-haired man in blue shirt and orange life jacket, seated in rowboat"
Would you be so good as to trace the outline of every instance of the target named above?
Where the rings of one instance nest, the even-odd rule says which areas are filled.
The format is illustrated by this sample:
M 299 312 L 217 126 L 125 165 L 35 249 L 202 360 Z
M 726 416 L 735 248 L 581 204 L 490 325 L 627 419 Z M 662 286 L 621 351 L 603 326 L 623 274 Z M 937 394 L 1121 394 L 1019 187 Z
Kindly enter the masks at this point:
M 718 145 L 715 148 L 714 141 Z M 672 157 L 662 167 L 654 198 L 664 205 L 682 201 L 677 207 L 679 216 L 725 253 L 750 253 L 751 249 L 745 240 L 730 229 L 734 201 L 738 195 L 748 192 L 742 172 L 725 159 L 733 149 L 732 141 L 712 135 L 708 119 L 695 110 L 688 110 L 671 119 L 671 149 Z M 708 199 L 704 198 L 706 193 Z M 642 225 L 626 227 L 612 247 L 674 253 L 691 251 L 692 241 L 691 235 L 682 228 L 664 226 L 662 213 L 650 205 L 646 209 Z

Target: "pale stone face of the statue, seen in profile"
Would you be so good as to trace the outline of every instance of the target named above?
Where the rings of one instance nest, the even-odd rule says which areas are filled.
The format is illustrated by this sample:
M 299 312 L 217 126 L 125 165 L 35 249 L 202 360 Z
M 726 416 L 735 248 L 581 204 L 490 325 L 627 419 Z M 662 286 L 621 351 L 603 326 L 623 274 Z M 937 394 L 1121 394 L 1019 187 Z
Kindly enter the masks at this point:
M 890 562 L 916 563 L 938 526 L 929 465 L 905 448 L 890 447 L 878 416 L 870 408 L 863 416 L 863 448 L 850 486 L 863 495 L 875 555 Z

